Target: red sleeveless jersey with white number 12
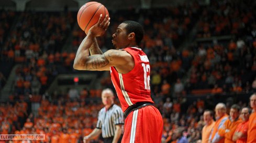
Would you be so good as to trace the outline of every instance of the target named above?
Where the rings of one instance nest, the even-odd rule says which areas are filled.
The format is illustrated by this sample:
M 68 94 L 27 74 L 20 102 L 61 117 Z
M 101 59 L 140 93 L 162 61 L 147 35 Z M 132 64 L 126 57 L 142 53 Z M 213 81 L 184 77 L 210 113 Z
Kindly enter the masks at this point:
M 110 74 L 121 108 L 125 112 L 137 102 L 154 102 L 150 96 L 150 65 L 147 55 L 136 47 L 123 50 L 133 57 L 135 66 L 126 74 L 118 73 L 115 67 L 110 67 Z

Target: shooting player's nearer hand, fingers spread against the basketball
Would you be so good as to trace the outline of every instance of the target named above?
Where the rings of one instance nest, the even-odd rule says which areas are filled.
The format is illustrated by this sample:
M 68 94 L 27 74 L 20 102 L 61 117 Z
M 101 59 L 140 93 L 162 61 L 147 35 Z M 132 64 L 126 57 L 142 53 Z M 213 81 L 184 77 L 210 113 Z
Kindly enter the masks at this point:
M 94 37 L 102 36 L 106 32 L 110 24 L 109 21 L 110 18 L 108 17 L 108 15 L 106 15 L 103 19 L 103 16 L 101 14 L 101 16 L 99 16 L 98 22 L 90 28 L 88 34 L 92 34 Z

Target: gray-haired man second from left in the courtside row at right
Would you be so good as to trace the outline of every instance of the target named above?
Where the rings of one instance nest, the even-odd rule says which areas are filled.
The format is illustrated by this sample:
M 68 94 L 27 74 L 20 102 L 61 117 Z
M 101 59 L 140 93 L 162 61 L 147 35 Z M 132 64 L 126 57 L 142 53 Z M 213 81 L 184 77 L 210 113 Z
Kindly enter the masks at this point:
M 209 141 L 210 143 L 224 143 L 224 138 L 219 135 L 219 129 L 223 127 L 224 123 L 228 119 L 228 115 L 226 113 L 226 105 L 224 103 L 218 103 L 215 107 L 215 126 L 210 133 Z

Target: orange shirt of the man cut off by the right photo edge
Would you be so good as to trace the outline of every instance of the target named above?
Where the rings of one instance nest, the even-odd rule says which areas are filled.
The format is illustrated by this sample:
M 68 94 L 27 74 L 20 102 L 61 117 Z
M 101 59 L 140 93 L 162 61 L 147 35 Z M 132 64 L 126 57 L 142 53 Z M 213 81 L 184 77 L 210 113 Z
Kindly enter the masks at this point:
M 247 142 L 255 143 L 256 142 L 256 112 L 252 113 L 249 118 L 249 128 L 247 132 Z

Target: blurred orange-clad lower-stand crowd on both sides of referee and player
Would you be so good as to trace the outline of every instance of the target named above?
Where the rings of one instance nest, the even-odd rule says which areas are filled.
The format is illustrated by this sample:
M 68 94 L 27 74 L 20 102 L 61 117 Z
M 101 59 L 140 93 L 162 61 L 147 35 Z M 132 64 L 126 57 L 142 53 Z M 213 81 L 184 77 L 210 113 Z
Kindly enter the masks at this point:
M 59 93 L 58 100 L 42 99 L 37 113 L 29 115 L 28 105 L 24 101 L 2 103 L 1 134 L 46 134 L 44 140 L 46 142 L 82 141 L 82 137 L 90 134 L 95 128 L 98 111 L 103 106 L 100 99 L 91 100 L 91 93 L 83 89 L 77 97 L 71 97 L 72 92 L 69 92 Z M 96 97 L 99 97 L 101 92 L 96 94 Z M 203 113 L 206 109 L 214 110 L 218 102 L 215 102 L 213 97 L 205 100 L 198 98 L 193 103 L 188 100 L 186 97 L 173 100 L 169 97 L 155 104 L 164 121 L 163 141 L 172 142 L 181 136 L 184 136 L 188 142 L 196 142 L 202 138 L 202 128 L 205 125 Z M 222 98 L 222 101 L 225 100 Z M 115 102 L 119 105 L 117 97 Z M 236 102 L 226 100 L 227 113 L 233 103 Z M 240 107 L 248 106 L 247 102 L 242 101 L 238 101 L 237 104 Z M 92 141 L 99 140 L 101 136 Z

